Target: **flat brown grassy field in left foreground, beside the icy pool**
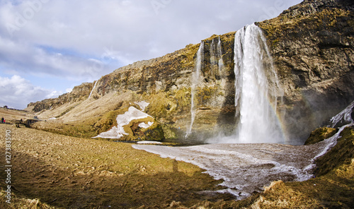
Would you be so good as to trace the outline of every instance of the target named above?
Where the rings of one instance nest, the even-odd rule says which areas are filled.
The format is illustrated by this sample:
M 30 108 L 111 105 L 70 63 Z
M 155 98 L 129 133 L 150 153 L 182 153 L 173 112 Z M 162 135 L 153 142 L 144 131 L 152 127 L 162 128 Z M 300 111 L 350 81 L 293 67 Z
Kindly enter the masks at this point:
M 198 191 L 216 189 L 202 169 L 164 159 L 127 143 L 74 138 L 0 124 L 0 150 L 11 130 L 11 186 L 16 196 L 58 208 L 166 208 L 200 202 Z M 4 155 L 1 187 L 5 189 Z

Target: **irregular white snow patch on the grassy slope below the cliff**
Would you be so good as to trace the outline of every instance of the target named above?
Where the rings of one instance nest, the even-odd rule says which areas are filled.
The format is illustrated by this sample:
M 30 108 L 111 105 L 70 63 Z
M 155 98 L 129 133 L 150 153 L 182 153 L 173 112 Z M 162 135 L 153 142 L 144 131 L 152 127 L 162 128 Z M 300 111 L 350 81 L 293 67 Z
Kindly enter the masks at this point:
M 119 114 L 117 116 L 117 124 L 118 126 L 114 126 L 112 129 L 110 129 L 109 131 L 103 132 L 98 134 L 98 136 L 93 137 L 93 138 L 120 138 L 123 135 L 128 135 L 128 133 L 126 133 L 124 131 L 124 127 L 127 124 L 130 124 L 130 121 L 135 120 L 135 119 L 144 119 L 147 117 L 151 117 L 149 116 L 149 114 L 146 114 L 142 111 L 140 111 L 139 109 L 135 108 L 135 107 L 129 107 L 128 111 L 125 112 L 125 114 Z M 144 126 L 144 128 L 149 128 L 149 124 L 139 124 Z

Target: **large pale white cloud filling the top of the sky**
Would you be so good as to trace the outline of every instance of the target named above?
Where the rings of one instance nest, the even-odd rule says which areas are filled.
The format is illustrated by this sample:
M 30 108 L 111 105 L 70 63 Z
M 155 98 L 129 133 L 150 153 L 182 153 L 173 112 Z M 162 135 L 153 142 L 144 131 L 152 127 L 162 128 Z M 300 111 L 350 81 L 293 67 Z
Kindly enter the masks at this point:
M 13 40 L 74 49 L 96 57 L 104 54 L 105 48 L 113 47 L 120 54 L 115 58 L 124 64 L 173 52 L 213 34 L 238 30 L 269 11 L 273 13 L 273 8 L 279 7 L 276 2 L 285 2 L 154 0 L 163 5 L 156 13 L 152 1 L 145 0 L 47 1 L 33 10 L 33 17 L 27 20 L 25 11 L 31 8 L 31 1 L 19 1 L 16 5 L 4 1 L 6 4 L 0 9 L 1 25 L 21 26 L 20 20 L 25 22 L 13 32 Z M 287 8 L 293 2 L 281 5 Z M 6 35 L 4 27 L 2 34 Z M 151 45 L 152 41 L 156 44 Z

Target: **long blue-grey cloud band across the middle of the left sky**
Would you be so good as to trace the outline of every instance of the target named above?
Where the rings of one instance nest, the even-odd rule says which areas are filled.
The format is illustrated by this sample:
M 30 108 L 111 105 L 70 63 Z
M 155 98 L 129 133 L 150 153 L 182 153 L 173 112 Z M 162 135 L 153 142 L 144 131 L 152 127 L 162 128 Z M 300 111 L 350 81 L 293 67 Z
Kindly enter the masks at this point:
M 0 64 L 8 71 L 32 73 L 42 76 L 58 76 L 61 78 L 82 78 L 93 80 L 108 71 L 110 64 L 100 60 L 92 61 L 78 55 L 50 52 L 55 49 L 36 47 L 28 42 L 13 42 L 0 37 Z M 113 54 L 114 55 L 114 54 Z M 105 59 L 105 56 L 101 56 Z M 110 54 L 110 62 L 115 63 Z M 30 71 L 28 71 L 30 68 Z

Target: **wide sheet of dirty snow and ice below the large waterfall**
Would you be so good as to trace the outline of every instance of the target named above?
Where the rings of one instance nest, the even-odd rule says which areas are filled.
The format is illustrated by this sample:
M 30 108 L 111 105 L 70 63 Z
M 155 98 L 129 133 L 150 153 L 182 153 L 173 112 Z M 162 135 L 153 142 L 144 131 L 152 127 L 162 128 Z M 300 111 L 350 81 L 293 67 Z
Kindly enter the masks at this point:
M 305 181 L 312 178 L 314 160 L 336 144 L 340 131 L 332 138 L 314 145 L 248 143 L 132 147 L 198 165 L 215 179 L 224 179 L 220 185 L 228 189 L 219 192 L 232 193 L 242 199 L 253 191 L 263 191 L 263 186 L 268 186 L 271 181 Z

